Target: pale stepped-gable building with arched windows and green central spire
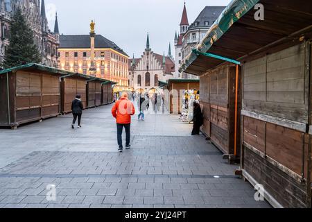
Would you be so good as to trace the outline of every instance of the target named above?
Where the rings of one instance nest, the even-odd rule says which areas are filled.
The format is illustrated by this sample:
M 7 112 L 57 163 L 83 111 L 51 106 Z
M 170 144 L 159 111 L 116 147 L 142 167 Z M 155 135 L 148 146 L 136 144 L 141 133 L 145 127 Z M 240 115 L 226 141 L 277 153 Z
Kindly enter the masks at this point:
M 166 82 L 173 78 L 175 72 L 175 62 L 171 57 L 169 47 L 168 56 L 154 53 L 150 49 L 149 35 L 146 41 L 146 49 L 141 58 L 129 60 L 129 82 L 132 90 L 144 89 L 145 92 L 150 89 L 161 90 L 158 81 Z

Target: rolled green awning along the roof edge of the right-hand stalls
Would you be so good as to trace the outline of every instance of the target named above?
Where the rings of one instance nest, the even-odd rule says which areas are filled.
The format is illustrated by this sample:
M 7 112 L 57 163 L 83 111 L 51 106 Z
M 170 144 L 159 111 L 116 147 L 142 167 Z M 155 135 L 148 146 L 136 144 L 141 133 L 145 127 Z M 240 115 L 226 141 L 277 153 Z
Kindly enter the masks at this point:
M 216 22 L 211 26 L 204 39 L 196 46 L 196 50 L 201 53 L 206 53 L 235 22 L 254 8 L 259 1 L 260 0 L 233 0 L 229 3 Z M 196 55 L 193 51 L 189 53 L 182 62 L 179 71 L 187 70 L 187 67 L 189 67 L 196 58 L 198 58 L 198 54 Z

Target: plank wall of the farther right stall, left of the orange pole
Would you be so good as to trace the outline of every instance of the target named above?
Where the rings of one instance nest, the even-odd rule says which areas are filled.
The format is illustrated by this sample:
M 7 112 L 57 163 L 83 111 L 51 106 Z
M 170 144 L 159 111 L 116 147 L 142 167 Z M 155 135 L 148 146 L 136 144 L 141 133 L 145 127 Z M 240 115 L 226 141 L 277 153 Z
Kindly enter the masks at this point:
M 204 114 L 202 130 L 223 153 L 230 155 L 234 154 L 235 80 L 236 69 L 228 63 L 200 76 L 200 103 Z M 239 137 L 239 130 L 237 135 Z

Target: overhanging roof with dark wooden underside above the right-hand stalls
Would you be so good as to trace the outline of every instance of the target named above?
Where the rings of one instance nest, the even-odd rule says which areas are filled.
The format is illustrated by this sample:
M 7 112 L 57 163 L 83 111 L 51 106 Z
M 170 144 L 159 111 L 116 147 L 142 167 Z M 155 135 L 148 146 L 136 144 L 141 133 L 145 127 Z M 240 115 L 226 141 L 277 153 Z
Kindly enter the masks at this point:
M 254 9 L 264 6 L 264 20 L 257 21 Z M 180 71 L 200 76 L 223 60 L 203 56 L 211 53 L 245 61 L 261 53 L 273 53 L 312 36 L 312 1 L 233 0 L 206 36 L 182 62 Z

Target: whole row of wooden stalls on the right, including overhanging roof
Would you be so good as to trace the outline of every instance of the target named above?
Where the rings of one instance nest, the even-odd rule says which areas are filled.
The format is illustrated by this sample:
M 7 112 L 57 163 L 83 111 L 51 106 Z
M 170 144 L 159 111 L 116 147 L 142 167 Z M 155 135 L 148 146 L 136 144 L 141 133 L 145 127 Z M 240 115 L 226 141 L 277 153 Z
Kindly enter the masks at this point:
M 202 131 L 273 207 L 311 208 L 311 37 L 312 1 L 234 0 L 180 67 Z

